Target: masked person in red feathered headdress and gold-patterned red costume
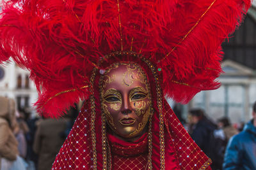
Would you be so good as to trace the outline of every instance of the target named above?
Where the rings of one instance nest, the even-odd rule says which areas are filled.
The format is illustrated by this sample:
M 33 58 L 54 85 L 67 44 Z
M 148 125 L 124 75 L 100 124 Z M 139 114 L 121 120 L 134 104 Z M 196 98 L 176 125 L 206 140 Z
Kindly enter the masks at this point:
M 164 96 L 216 89 L 221 42 L 249 0 L 18 0 L 0 21 L 1 61 L 31 71 L 36 106 L 84 100 L 52 169 L 210 169 Z

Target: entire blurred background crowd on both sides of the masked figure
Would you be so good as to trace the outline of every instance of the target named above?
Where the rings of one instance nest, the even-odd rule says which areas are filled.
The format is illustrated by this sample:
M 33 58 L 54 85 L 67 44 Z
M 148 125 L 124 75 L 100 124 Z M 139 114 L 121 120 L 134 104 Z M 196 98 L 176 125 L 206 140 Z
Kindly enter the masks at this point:
M 80 104 L 81 105 L 81 104 Z M 47 170 L 70 132 L 81 106 L 70 108 L 58 119 L 31 115 L 29 108 L 15 109 L 13 99 L 0 97 L 1 170 Z M 191 138 L 212 160 L 212 169 L 256 169 L 256 103 L 252 120 L 237 128 L 227 117 L 217 122 L 207 118 L 200 108 L 188 111 L 180 122 Z

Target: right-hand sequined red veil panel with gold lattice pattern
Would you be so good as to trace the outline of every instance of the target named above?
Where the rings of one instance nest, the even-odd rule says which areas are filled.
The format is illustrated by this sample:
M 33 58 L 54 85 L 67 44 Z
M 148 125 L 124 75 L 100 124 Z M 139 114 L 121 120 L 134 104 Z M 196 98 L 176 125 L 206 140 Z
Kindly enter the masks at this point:
M 170 141 L 175 146 L 180 169 L 211 169 L 209 166 L 211 159 L 205 155 L 189 136 L 166 100 L 164 100 L 164 114 L 166 127 L 168 127 L 165 134 L 172 136 L 172 140 L 167 141 Z

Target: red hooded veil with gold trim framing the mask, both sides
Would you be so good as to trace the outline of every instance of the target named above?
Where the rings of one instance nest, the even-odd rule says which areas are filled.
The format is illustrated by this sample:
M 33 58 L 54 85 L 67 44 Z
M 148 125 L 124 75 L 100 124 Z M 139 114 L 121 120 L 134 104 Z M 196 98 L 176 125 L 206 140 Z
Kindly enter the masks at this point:
M 151 169 L 209 168 L 211 159 L 190 138 L 163 97 L 161 90 L 163 89 L 162 71 L 157 70 L 156 66 L 149 60 L 141 58 L 134 52 L 120 52 L 119 54 L 115 52 L 113 56 L 115 57 L 108 59 L 108 62 L 105 62 L 101 69 L 95 68 L 93 71 L 90 86 L 92 96 L 90 96 L 90 100 L 84 102 L 81 113 L 79 113 L 76 123 L 57 155 L 52 168 L 89 169 L 91 167 L 92 169 L 104 169 L 104 161 L 108 162 L 111 156 L 109 156 L 109 146 L 104 145 L 103 142 L 106 139 L 104 137 L 106 134 L 102 131 L 104 124 L 102 124 L 99 98 L 100 70 L 104 70 L 117 59 L 122 59 L 122 62 L 139 64 L 147 73 L 150 89 L 154 89 L 152 90 L 154 114 L 151 120 L 152 127 L 148 130 L 152 132 L 151 148 L 148 147 L 148 153 L 151 154 Z M 149 137 L 148 139 L 150 140 Z M 161 145 L 162 142 L 163 145 Z M 104 154 L 105 147 L 106 153 Z M 109 164 L 108 162 L 106 166 L 109 167 Z M 136 169 L 136 162 L 132 166 L 130 164 L 129 167 Z

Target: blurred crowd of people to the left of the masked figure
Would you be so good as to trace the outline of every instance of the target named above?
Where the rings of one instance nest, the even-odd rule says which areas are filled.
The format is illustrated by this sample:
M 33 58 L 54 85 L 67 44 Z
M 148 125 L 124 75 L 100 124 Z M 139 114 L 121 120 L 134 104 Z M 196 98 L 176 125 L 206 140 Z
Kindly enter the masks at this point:
M 0 169 L 51 169 L 78 115 L 77 108 L 58 119 L 33 117 L 30 108 L 15 108 L 13 99 L 0 97 Z

